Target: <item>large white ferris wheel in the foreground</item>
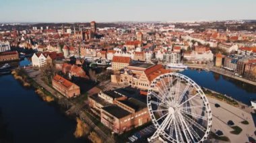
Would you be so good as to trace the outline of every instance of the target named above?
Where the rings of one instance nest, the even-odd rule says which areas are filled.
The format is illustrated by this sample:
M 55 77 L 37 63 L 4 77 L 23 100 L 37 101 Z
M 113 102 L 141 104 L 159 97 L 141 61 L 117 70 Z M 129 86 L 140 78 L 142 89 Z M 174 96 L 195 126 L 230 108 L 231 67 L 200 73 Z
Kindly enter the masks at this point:
M 166 73 L 152 81 L 148 110 L 156 132 L 151 142 L 203 142 L 210 134 L 212 111 L 205 94 L 194 81 L 179 73 Z

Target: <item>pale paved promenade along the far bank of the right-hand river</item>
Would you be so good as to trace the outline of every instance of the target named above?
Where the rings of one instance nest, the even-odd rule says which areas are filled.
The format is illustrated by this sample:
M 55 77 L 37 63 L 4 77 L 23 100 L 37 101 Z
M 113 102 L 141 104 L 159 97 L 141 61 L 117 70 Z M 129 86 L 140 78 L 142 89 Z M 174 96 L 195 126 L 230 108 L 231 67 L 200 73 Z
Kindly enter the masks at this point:
M 249 83 L 251 85 L 256 86 L 255 81 L 250 81 L 248 79 L 244 79 L 243 77 L 238 77 L 238 76 L 234 75 L 234 72 L 225 70 L 224 68 L 218 68 L 216 66 L 209 66 L 207 64 L 185 64 L 185 65 L 187 65 L 189 68 L 200 68 L 200 69 L 208 68 L 209 70 L 211 70 L 214 73 L 218 73 L 220 75 L 224 75 L 226 77 L 230 77 L 232 79 L 236 79 L 238 81 L 243 81 L 244 83 Z

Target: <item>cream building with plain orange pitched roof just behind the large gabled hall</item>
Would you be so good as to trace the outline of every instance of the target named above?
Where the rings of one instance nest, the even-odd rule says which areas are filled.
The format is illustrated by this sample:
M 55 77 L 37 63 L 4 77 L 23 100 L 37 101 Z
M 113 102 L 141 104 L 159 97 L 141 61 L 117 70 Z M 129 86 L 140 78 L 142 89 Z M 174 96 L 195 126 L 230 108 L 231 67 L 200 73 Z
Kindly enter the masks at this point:
M 127 56 L 114 56 L 111 66 L 113 70 L 121 70 L 131 64 L 131 58 Z

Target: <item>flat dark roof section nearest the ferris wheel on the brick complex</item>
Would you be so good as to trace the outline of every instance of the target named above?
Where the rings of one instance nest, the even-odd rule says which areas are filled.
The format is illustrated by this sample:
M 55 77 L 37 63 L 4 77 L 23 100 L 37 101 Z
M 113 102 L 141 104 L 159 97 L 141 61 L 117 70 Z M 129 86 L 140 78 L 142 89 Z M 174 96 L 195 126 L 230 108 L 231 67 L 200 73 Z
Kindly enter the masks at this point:
M 134 98 L 129 98 L 127 100 L 121 100 L 121 103 L 135 109 L 135 111 L 139 111 L 141 109 L 144 109 L 147 107 L 146 103 L 143 103 L 137 99 Z

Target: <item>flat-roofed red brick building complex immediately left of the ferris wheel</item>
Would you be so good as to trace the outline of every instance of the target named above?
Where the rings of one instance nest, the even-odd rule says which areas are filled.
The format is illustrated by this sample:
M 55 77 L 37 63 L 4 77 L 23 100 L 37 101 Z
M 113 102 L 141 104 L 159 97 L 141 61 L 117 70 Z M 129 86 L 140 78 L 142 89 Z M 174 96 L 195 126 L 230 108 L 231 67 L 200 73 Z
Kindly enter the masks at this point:
M 146 103 L 117 91 L 103 91 L 88 97 L 90 109 L 100 121 L 117 134 L 150 122 Z

